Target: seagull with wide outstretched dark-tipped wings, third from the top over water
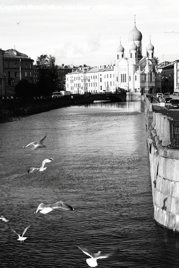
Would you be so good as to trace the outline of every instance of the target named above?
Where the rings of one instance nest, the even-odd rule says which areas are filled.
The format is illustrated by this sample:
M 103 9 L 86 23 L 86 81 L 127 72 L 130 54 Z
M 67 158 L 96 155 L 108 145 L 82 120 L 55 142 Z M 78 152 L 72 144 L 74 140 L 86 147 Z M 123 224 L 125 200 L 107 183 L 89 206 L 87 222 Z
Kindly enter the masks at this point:
M 46 213 L 54 210 L 55 208 L 62 208 L 65 210 L 70 210 L 70 211 L 75 210 L 67 203 L 65 203 L 63 201 L 59 201 L 59 202 L 56 202 L 55 204 L 48 204 L 48 205 L 45 205 L 44 203 L 40 203 L 40 205 L 38 206 L 36 211 L 34 211 L 34 214 L 36 214 L 39 210 L 40 210 L 40 213 L 46 214 Z

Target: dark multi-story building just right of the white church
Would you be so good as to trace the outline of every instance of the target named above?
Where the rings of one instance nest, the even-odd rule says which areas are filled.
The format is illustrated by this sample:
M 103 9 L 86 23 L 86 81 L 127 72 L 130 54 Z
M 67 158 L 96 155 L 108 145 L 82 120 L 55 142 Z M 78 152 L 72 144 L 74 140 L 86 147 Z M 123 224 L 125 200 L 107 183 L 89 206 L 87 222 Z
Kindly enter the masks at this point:
M 174 91 L 174 62 L 163 62 L 158 65 L 161 72 L 161 92 L 173 93 Z

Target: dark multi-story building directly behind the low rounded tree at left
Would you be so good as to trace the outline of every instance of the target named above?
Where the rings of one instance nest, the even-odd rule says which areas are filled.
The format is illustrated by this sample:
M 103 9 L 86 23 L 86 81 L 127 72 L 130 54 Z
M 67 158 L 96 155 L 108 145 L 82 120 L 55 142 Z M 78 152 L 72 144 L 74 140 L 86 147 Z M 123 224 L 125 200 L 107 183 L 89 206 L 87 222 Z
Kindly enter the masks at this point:
M 33 62 L 26 54 L 15 49 L 4 52 L 5 94 L 14 95 L 15 85 L 22 79 L 33 82 Z

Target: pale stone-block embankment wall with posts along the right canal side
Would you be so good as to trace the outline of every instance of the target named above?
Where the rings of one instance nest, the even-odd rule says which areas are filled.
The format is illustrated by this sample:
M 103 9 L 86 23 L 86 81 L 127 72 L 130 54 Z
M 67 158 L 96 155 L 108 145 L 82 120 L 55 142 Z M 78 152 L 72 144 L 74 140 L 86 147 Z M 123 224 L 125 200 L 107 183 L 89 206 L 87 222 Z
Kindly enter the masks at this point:
M 152 111 L 146 98 L 145 119 L 150 158 L 154 219 L 179 232 L 179 149 L 170 146 L 170 117 Z

